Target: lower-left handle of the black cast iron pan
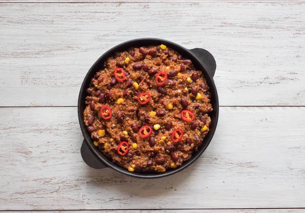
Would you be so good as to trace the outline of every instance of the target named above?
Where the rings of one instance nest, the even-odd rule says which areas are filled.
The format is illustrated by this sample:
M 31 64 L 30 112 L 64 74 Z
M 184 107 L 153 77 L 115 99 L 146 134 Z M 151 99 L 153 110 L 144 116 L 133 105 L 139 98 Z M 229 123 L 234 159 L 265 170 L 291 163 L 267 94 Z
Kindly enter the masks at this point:
M 92 167 L 95 169 L 103 169 L 103 168 L 107 167 L 96 157 L 96 155 L 92 152 L 92 150 L 90 150 L 90 148 L 85 140 L 83 140 L 83 143 L 81 145 L 80 154 L 81 154 L 81 157 L 84 160 L 84 162 L 89 167 Z

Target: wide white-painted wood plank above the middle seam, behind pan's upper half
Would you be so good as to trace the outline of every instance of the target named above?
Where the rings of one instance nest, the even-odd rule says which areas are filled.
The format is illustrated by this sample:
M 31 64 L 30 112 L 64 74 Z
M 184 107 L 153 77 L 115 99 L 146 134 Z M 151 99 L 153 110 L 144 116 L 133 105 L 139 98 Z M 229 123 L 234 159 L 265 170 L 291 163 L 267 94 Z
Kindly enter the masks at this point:
M 121 42 L 159 37 L 216 58 L 222 106 L 305 105 L 305 4 L 0 4 L 0 106 L 76 106 Z

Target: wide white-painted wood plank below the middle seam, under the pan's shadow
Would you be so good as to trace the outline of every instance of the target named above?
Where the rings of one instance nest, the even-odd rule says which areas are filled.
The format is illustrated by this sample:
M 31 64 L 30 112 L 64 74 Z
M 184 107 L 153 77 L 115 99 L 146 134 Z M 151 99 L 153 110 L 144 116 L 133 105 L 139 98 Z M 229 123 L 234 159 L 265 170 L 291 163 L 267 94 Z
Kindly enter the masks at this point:
M 0 210 L 305 207 L 305 107 L 221 107 L 203 156 L 161 179 L 86 166 L 76 114 L 0 108 Z

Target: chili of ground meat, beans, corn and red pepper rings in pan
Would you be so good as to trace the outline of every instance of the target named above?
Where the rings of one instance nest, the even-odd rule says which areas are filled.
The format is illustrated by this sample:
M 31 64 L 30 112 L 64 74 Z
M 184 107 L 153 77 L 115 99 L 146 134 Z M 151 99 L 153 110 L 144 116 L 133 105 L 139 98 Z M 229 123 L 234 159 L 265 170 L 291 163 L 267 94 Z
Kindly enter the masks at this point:
M 189 160 L 212 111 L 192 61 L 160 45 L 117 52 L 105 67 L 86 90 L 84 122 L 94 145 L 130 172 L 165 172 Z

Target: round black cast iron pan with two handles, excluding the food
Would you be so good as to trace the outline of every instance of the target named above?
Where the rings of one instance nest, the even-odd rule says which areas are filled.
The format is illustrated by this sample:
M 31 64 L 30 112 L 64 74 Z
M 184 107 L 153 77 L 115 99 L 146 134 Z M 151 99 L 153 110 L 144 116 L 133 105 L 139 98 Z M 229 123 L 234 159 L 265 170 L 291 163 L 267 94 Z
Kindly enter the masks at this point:
M 209 90 L 211 93 L 211 104 L 213 107 L 213 111 L 209 113 L 212 123 L 209 126 L 209 132 L 207 136 L 204 138 L 202 145 L 198 148 L 198 150 L 193 153 L 190 160 L 182 164 L 181 166 L 168 170 L 164 173 L 135 173 L 135 172 L 129 172 L 126 169 L 123 169 L 115 164 L 113 164 L 110 160 L 108 160 L 101 151 L 94 146 L 93 140 L 90 137 L 90 134 L 86 130 L 86 126 L 84 124 L 84 117 L 83 117 L 83 111 L 85 109 L 85 98 L 87 96 L 86 94 L 86 88 L 88 88 L 90 84 L 90 79 L 94 77 L 94 75 L 104 68 L 104 62 L 105 60 L 113 55 L 115 52 L 118 51 L 124 51 L 129 49 L 130 47 L 141 47 L 141 46 L 149 46 L 149 45 L 161 45 L 164 44 L 170 48 L 175 49 L 179 54 L 181 54 L 184 57 L 187 57 L 192 60 L 195 68 L 197 70 L 201 70 L 203 72 L 203 75 L 205 79 L 207 80 Z M 178 44 L 175 44 L 170 41 L 166 41 L 163 39 L 154 39 L 154 38 L 142 38 L 142 39 L 135 39 L 131 41 L 127 41 L 124 43 L 121 43 L 107 52 L 105 52 L 98 60 L 97 62 L 90 68 L 87 75 L 85 76 L 85 79 L 83 80 L 83 83 L 80 88 L 79 97 L 78 97 L 78 119 L 80 124 L 80 129 L 82 131 L 82 134 L 84 136 L 84 140 L 81 146 L 81 156 L 84 160 L 84 162 L 95 169 L 103 169 L 106 167 L 110 167 L 120 173 L 133 176 L 133 177 L 140 177 L 140 178 L 157 178 L 157 177 L 165 177 L 171 174 L 174 174 L 178 171 L 181 171 L 182 169 L 187 168 L 190 166 L 194 161 L 196 161 L 203 151 L 206 149 L 208 144 L 210 143 L 212 137 L 214 136 L 217 121 L 218 121 L 218 114 L 219 114 L 219 102 L 218 102 L 218 95 L 216 86 L 213 80 L 214 74 L 216 71 L 216 62 L 214 57 L 205 49 L 201 48 L 195 48 L 195 49 L 186 49 Z

